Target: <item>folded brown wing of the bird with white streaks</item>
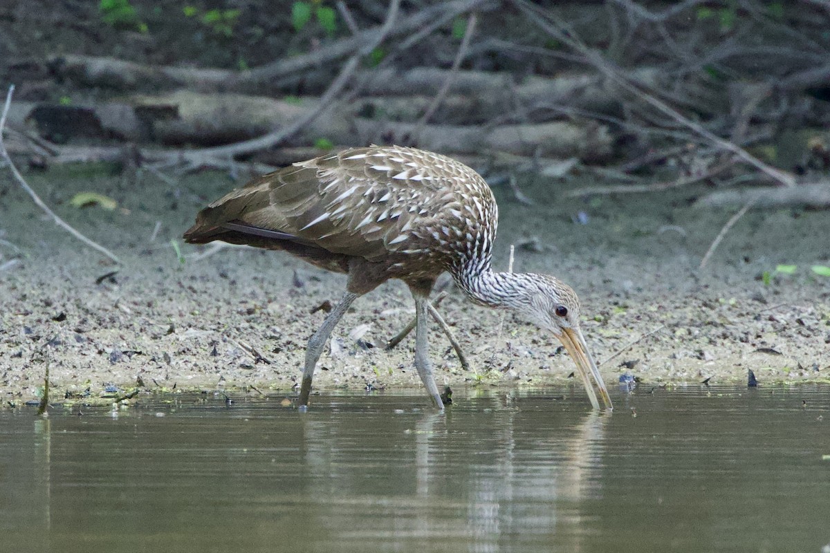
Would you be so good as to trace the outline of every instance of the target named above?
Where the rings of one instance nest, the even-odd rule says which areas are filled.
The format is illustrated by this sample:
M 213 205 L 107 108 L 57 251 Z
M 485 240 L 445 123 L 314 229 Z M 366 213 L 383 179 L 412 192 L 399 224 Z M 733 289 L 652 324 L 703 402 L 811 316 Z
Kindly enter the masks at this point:
M 412 148 L 352 148 L 255 179 L 207 206 L 188 235 L 231 223 L 377 259 L 440 232 L 442 216 L 461 213 L 471 175 L 481 180 L 461 163 Z

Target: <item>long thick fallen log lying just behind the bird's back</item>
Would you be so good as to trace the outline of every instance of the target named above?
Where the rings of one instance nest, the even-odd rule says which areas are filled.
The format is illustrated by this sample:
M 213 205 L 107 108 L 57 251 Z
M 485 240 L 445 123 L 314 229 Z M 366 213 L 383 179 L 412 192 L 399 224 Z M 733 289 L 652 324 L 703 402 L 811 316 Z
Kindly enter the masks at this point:
M 160 96 L 136 95 L 94 107 L 49 104 L 26 108 L 29 119 L 47 138 L 56 133 L 61 138 L 77 138 L 95 136 L 97 132 L 100 138 L 137 143 L 211 146 L 280 129 L 315 109 L 317 102 L 310 98 L 286 102 L 262 96 L 208 95 L 179 90 Z M 326 138 L 331 143 L 344 145 L 417 143 L 423 148 L 447 153 L 494 150 L 522 156 L 578 157 L 592 161 L 611 154 L 608 128 L 592 122 L 555 121 L 491 128 L 480 124 L 427 125 L 417 137 L 413 136 L 413 120 L 420 117 L 429 102 L 427 97 L 358 99 L 345 109 L 322 114 L 301 131 L 296 142 L 310 144 Z M 467 106 L 472 116 L 476 105 L 461 96 L 447 99 L 450 112 L 461 113 Z M 410 121 L 359 117 L 368 112 Z

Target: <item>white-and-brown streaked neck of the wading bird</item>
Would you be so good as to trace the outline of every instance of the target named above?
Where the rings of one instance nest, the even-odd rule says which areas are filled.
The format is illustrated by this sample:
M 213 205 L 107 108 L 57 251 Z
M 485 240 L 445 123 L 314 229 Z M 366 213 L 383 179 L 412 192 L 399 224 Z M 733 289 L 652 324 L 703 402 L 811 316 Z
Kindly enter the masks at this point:
M 453 277 L 458 287 L 476 303 L 490 308 L 522 308 L 525 294 L 521 293 L 521 283 L 525 274 L 498 273 L 488 259 L 464 264 L 461 270 L 453 271 Z

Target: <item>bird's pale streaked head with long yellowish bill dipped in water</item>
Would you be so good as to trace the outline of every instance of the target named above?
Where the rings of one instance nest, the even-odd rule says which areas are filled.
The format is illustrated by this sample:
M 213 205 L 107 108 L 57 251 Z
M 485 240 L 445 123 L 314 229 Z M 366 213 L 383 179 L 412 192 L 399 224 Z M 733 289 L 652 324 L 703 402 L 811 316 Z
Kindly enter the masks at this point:
M 574 289 L 548 274 L 527 274 L 525 279 L 527 282 L 522 287 L 524 297 L 520 298 L 517 311 L 536 326 L 553 332 L 559 338 L 576 363 L 594 408 L 598 408 L 599 403 L 593 391 L 592 379 L 605 406 L 612 408 L 608 389 L 588 352 L 579 327 L 579 298 Z

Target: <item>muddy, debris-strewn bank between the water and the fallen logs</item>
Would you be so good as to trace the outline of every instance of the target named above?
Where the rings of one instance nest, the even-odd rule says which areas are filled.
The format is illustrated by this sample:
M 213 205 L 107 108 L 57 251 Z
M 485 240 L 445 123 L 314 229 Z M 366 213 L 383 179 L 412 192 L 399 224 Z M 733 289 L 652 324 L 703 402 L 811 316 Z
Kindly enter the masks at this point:
M 124 266 L 96 284 L 111 268 L 0 177 L 0 264 L 17 261 L 0 271 L 3 398 L 36 396 L 46 360 L 53 396 L 86 388 L 99 395 L 108 384 L 131 389 L 139 379 L 155 390 L 255 386 L 291 393 L 305 341 L 324 316 L 311 311 L 335 302 L 344 278 L 284 253 L 244 248 L 198 260 L 204 248 L 182 245 L 186 262 L 180 264 L 169 240 L 178 240 L 199 207 L 233 187 L 226 177 L 190 176 L 178 187 L 146 175 L 126 185 L 100 167 L 27 177 L 61 216 L 114 250 Z M 593 201 L 563 199 L 560 183 L 525 182 L 523 189 L 536 206 L 496 189 L 496 264 L 506 266 L 510 243 L 541 245 L 519 247 L 515 270 L 549 272 L 574 286 L 598 361 L 626 347 L 601 366 L 609 384 L 629 370 L 652 383 L 710 376 L 712 383 L 738 383 L 748 368 L 768 383 L 828 381 L 830 279 L 809 271 L 812 264 L 830 264 L 827 211 L 750 212 L 701 272 L 701 256 L 732 214 L 687 206 L 701 189 Z M 70 207 L 81 191 L 111 196 L 120 207 Z M 579 211 L 587 225 L 574 224 Z M 759 279 L 782 263 L 797 264 L 798 271 L 776 275 L 769 285 Z M 439 385 L 539 387 L 566 382 L 574 371 L 554 337 L 509 314 L 499 332 L 501 313 L 466 302 L 457 290 L 441 309 L 475 370 L 461 370 L 436 329 L 431 345 Z M 360 298 L 335 331 L 339 347 L 335 357 L 324 353 L 315 387 L 419 386 L 413 338 L 392 352 L 382 347 L 412 314 L 401 283 Z M 349 338 L 356 328 L 375 347 Z

